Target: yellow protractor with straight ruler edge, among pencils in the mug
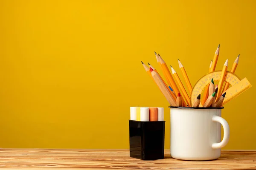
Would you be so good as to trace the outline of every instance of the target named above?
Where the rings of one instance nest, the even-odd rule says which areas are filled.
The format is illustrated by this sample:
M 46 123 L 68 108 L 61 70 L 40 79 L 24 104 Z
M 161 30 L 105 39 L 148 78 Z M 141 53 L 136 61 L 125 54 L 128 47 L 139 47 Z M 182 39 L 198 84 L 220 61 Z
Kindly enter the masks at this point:
M 195 83 L 194 88 L 192 89 L 192 93 L 190 96 L 191 103 L 194 103 L 196 97 L 199 94 L 201 94 L 202 96 L 204 89 L 211 82 L 211 79 L 213 79 L 214 81 L 219 81 L 220 77 L 221 71 L 213 71 L 199 79 L 198 82 Z M 234 99 L 235 97 L 239 96 L 239 94 L 243 93 L 252 86 L 246 78 L 241 80 L 236 74 L 231 73 L 230 71 L 227 71 L 227 77 L 224 81 L 228 82 L 230 85 L 232 85 L 232 87 L 228 88 L 225 91 L 226 96 L 224 98 L 222 105 L 226 104 L 231 99 Z M 200 106 L 202 106 L 202 103 L 200 103 Z

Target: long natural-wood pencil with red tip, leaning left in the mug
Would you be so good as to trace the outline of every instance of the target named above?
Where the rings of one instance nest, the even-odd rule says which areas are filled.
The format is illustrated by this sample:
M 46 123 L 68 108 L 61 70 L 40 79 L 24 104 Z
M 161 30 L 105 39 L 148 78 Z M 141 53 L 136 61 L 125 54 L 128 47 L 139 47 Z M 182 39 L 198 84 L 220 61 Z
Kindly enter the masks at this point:
M 154 71 L 152 68 L 150 68 L 151 75 L 155 82 L 157 83 L 157 86 L 160 88 L 160 91 L 162 91 L 163 95 L 166 97 L 167 101 L 169 102 L 170 105 L 176 106 L 176 101 L 173 99 L 171 93 L 168 91 L 166 86 L 164 85 L 163 81 L 159 77 L 156 71 Z

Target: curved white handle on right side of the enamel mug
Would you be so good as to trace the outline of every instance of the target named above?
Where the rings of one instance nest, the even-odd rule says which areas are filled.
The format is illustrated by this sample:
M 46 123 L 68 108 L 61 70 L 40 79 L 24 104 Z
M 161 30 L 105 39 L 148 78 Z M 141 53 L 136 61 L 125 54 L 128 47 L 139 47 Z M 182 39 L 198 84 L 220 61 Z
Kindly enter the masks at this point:
M 223 129 L 224 129 L 224 135 L 223 135 L 222 141 L 220 143 L 213 143 L 212 149 L 218 149 L 218 148 L 226 146 L 226 144 L 229 140 L 229 135 L 230 135 L 229 125 L 227 124 L 227 121 L 220 116 L 213 116 L 212 121 L 219 122 L 223 126 Z

